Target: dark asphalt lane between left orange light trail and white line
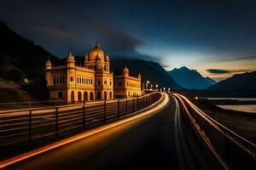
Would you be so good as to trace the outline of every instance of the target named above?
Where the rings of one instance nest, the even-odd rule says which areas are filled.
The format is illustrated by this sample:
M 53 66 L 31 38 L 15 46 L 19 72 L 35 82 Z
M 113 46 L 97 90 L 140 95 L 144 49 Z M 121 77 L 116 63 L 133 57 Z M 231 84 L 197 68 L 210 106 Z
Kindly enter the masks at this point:
M 173 98 L 160 111 L 20 161 L 8 169 L 178 169 Z

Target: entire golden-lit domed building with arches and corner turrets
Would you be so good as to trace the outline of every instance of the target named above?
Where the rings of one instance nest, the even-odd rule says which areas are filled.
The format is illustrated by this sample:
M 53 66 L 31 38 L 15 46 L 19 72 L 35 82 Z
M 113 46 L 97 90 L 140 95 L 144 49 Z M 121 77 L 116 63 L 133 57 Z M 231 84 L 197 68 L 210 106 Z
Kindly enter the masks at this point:
M 123 75 L 113 76 L 108 54 L 105 56 L 99 43 L 84 55 L 84 65 L 76 65 L 73 54 L 68 54 L 66 65 L 45 63 L 45 79 L 49 99 L 95 100 L 113 99 L 113 95 L 141 95 L 141 76 L 130 77 L 127 67 Z M 116 81 L 114 81 L 116 79 Z M 113 82 L 117 82 L 113 86 Z M 120 85 L 120 86 L 119 86 Z

